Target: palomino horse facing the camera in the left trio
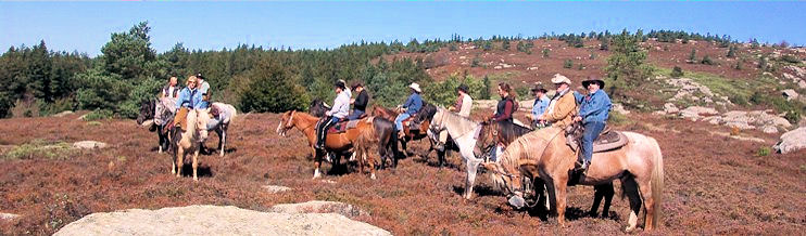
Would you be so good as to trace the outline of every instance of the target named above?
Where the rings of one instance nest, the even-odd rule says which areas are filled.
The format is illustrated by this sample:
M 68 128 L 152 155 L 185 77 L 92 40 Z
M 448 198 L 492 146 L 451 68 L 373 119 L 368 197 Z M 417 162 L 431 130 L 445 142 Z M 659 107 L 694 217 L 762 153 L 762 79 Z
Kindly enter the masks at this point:
M 181 176 L 181 167 L 185 165 L 185 155 L 193 153 L 193 181 L 199 181 L 199 147 L 201 142 L 207 139 L 207 120 L 210 115 L 205 109 L 190 109 L 186 118 L 184 128 L 174 127 L 173 139 L 171 140 L 174 147 L 174 163 L 171 167 L 171 173 Z

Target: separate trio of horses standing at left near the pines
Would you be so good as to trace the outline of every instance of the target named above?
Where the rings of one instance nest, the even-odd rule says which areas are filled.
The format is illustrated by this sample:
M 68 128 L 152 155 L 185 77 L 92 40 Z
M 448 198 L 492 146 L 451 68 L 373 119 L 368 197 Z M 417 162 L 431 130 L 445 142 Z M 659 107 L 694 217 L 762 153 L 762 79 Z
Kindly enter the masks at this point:
M 236 116 L 235 106 L 225 103 L 212 103 L 209 109 L 190 109 L 185 127 L 173 127 L 176 115 L 176 99 L 160 97 L 144 100 L 140 103 L 140 114 L 137 124 L 149 127 L 159 137 L 158 152 L 167 150 L 172 157 L 171 173 L 181 176 L 185 157 L 192 154 L 193 180 L 198 181 L 199 153 L 205 150 L 204 141 L 209 131 L 218 134 L 218 153 L 224 157 L 229 122 Z M 225 117 L 211 117 L 211 114 L 226 114 Z M 209 126 L 211 119 L 219 119 L 214 126 Z M 149 122 L 147 122 L 149 121 Z

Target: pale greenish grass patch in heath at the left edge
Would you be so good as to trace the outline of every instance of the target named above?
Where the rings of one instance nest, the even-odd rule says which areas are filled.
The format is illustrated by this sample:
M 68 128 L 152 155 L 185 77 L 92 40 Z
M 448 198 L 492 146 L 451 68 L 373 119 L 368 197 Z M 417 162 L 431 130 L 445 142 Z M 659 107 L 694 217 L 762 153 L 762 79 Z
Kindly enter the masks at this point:
M 15 146 L 2 155 L 3 159 L 64 159 L 73 152 L 71 144 L 65 142 L 47 142 L 34 140 L 29 143 Z

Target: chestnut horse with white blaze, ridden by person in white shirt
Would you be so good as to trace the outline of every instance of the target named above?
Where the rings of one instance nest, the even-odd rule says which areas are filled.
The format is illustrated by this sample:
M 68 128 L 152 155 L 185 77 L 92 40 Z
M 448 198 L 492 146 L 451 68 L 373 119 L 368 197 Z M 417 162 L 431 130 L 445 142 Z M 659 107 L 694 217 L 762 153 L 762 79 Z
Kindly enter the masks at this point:
M 314 179 L 319 178 L 322 174 L 319 172 L 319 167 L 322 167 L 322 157 L 325 156 L 324 152 L 319 152 L 318 149 L 314 148 L 314 144 L 316 143 L 316 122 L 319 120 L 319 118 L 311 116 L 306 113 L 297 112 L 297 110 L 289 110 L 282 114 L 282 118 L 280 119 L 280 123 L 277 124 L 277 133 L 286 136 L 286 133 L 291 128 L 297 128 L 298 130 L 302 131 L 302 133 L 307 137 L 307 144 L 311 146 L 312 154 L 314 156 Z M 337 154 L 337 157 L 335 158 L 333 165 L 337 165 L 339 162 L 339 159 L 341 157 L 341 154 L 349 150 L 353 147 L 354 141 L 361 133 L 370 132 L 373 129 L 381 129 L 382 127 L 379 127 L 377 124 L 374 124 L 373 118 L 365 118 L 362 119 L 362 122 L 358 122 L 356 124 L 356 128 L 354 129 L 348 129 L 343 133 L 336 133 L 336 134 L 327 134 L 327 140 L 325 141 L 325 148 L 327 150 L 331 150 Z M 393 135 L 393 131 L 389 131 L 388 129 L 392 129 L 393 127 L 387 127 L 387 130 L 383 132 L 377 132 L 378 134 L 382 133 L 389 133 L 389 135 Z M 387 145 L 388 147 L 388 145 Z M 386 150 L 388 148 L 379 148 L 378 152 Z M 388 155 L 386 152 L 382 155 Z M 374 168 L 373 168 L 374 169 Z

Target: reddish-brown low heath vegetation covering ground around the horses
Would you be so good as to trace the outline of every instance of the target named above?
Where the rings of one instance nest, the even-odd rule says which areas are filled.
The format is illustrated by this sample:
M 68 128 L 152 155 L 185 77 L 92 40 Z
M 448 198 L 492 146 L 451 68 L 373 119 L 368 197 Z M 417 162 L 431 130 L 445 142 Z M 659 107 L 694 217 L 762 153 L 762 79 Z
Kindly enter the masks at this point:
M 477 113 L 481 114 L 481 113 Z M 274 132 L 279 116 L 254 114 L 230 127 L 227 156 L 201 157 L 199 182 L 169 174 L 169 157 L 155 152 L 153 133 L 131 120 L 101 120 L 88 126 L 77 115 L 63 118 L 0 120 L 0 145 L 32 142 L 96 140 L 112 144 L 97 152 L 68 153 L 50 158 L 37 154 L 0 159 L 0 212 L 21 214 L 0 220 L 2 234 L 52 234 L 91 212 L 128 208 L 158 209 L 187 205 L 232 205 L 265 210 L 275 204 L 313 199 L 337 200 L 361 207 L 370 217 L 355 220 L 408 234 L 622 234 L 626 199 L 616 198 L 612 218 L 583 215 L 592 187 L 570 188 L 569 226 L 541 212 L 516 211 L 492 191 L 482 174 L 474 200 L 459 196 L 463 172 L 432 167 L 436 158 L 415 156 L 395 170 L 365 174 L 333 171 L 311 180 L 312 161 L 298 131 L 284 139 Z M 757 156 L 769 144 L 713 135 L 727 128 L 648 115 L 632 115 L 625 130 L 656 137 L 665 155 L 665 218 L 658 234 L 782 234 L 806 230 L 806 150 Z M 752 133 L 768 141 L 777 136 Z M 212 137 L 207 146 L 214 146 Z M 423 150 L 423 145 L 415 145 Z M 5 149 L 3 149 L 5 152 Z M 457 156 L 449 158 L 462 166 Z M 188 168 L 188 167 L 186 167 Z M 329 165 L 325 166 L 327 170 Z M 335 173 L 335 174 L 333 174 Z M 269 194 L 266 184 L 293 191 Z M 618 185 L 617 185 L 618 187 Z

